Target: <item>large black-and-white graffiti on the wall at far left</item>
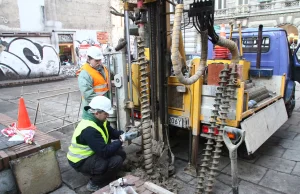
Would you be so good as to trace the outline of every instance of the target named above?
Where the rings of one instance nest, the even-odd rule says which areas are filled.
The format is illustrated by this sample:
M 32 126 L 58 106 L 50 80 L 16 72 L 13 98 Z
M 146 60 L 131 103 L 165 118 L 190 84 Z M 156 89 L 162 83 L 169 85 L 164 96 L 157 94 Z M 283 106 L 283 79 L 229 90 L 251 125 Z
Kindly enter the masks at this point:
M 60 60 L 53 46 L 28 38 L 0 38 L 0 79 L 54 76 L 59 72 Z

